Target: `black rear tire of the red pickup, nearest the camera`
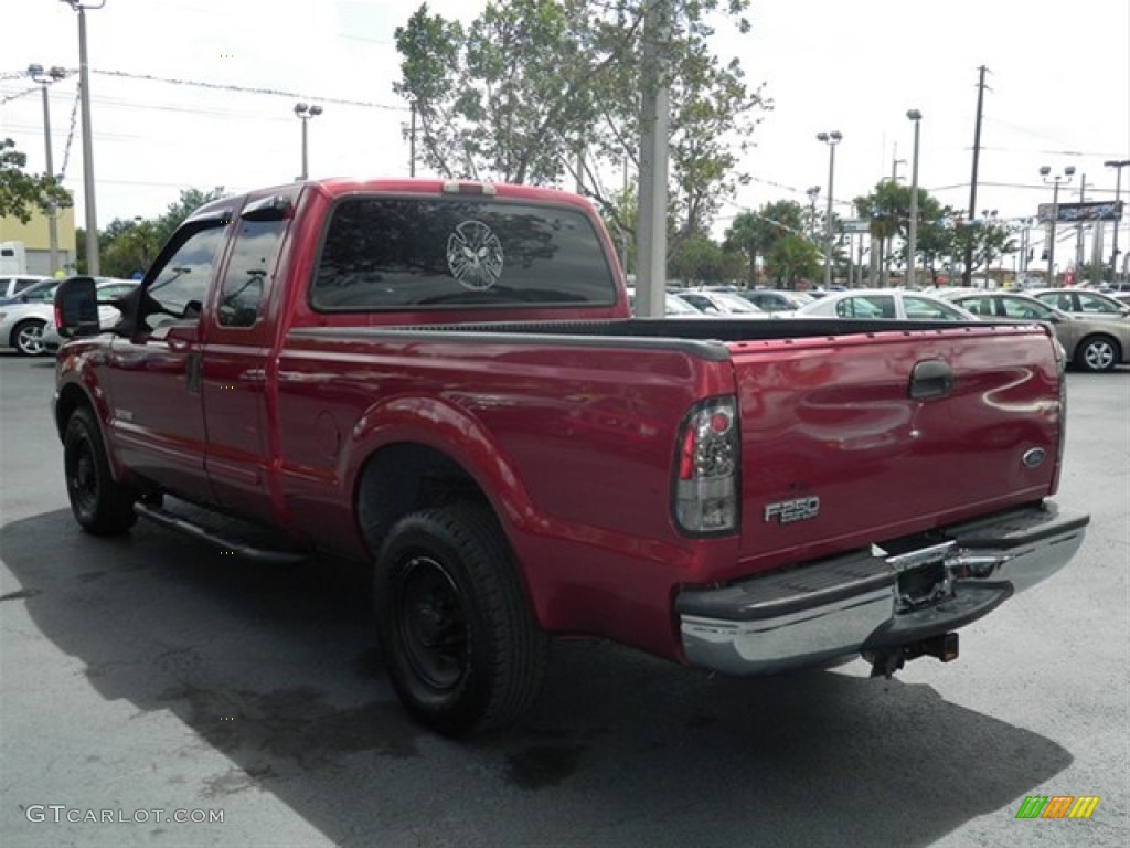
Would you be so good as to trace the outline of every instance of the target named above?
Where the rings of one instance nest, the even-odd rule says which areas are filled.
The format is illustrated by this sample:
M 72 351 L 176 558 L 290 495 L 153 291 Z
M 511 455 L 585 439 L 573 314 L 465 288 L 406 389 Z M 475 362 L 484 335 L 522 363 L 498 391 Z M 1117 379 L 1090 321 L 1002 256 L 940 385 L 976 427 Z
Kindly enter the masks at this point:
M 374 572 L 385 666 L 417 720 L 460 736 L 504 727 L 530 708 L 548 638 L 488 510 L 457 504 L 406 516 Z

